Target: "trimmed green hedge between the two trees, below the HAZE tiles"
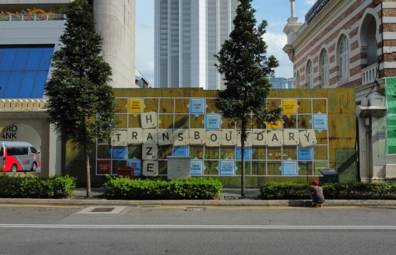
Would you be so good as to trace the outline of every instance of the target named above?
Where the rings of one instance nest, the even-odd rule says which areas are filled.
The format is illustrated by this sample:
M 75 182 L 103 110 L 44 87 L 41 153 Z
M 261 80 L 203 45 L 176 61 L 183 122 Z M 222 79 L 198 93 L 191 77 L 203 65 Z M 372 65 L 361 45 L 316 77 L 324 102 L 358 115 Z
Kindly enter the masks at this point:
M 223 188 L 219 179 L 193 177 L 163 181 L 106 177 L 107 182 L 103 186 L 107 199 L 213 199 L 220 195 Z

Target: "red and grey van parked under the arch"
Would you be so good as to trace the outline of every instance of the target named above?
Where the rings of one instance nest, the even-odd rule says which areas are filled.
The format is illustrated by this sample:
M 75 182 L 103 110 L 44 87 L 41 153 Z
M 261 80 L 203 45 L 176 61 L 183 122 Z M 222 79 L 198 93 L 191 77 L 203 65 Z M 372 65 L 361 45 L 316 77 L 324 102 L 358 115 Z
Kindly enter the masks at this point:
M 0 171 L 40 170 L 40 152 L 28 142 L 0 142 Z

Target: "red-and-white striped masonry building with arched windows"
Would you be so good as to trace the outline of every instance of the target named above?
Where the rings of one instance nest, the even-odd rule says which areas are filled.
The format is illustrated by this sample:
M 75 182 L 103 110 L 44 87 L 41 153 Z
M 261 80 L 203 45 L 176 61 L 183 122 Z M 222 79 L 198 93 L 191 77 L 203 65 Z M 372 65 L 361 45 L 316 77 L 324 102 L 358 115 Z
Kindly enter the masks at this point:
M 354 88 L 359 179 L 396 178 L 395 154 L 385 152 L 394 131 L 387 129 L 384 92 L 396 76 L 396 2 L 318 0 L 304 23 L 294 17 L 294 2 L 283 49 L 293 62 L 293 87 Z

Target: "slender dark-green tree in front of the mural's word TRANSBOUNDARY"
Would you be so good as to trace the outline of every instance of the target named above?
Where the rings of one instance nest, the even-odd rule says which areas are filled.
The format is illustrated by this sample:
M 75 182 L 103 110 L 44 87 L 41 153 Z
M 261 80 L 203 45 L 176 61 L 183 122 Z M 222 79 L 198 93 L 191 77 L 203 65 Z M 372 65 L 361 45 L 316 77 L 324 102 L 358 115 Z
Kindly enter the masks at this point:
M 255 123 L 266 128 L 264 122 L 273 123 L 281 118 L 281 108 L 267 109 L 267 96 L 274 76 L 274 68 L 279 66 L 276 58 L 266 57 L 267 44 L 262 39 L 267 21 L 256 26 L 255 9 L 252 0 L 240 0 L 233 21 L 234 29 L 220 52 L 215 55 L 215 64 L 222 74 L 226 89 L 219 91 L 216 107 L 229 120 L 235 120 L 240 127 L 242 174 L 241 196 L 246 196 L 245 188 L 245 140 Z M 252 113 L 255 118 L 252 119 Z

